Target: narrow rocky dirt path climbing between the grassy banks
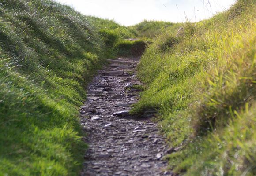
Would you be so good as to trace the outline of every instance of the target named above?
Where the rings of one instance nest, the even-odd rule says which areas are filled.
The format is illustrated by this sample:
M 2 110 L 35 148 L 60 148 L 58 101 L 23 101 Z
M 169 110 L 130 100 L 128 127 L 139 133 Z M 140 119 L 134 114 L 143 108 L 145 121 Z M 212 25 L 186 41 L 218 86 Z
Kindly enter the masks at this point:
M 81 108 L 89 149 L 81 176 L 170 176 L 162 157 L 170 152 L 158 125 L 128 114 L 138 101 L 136 58 L 119 58 L 98 72 Z

